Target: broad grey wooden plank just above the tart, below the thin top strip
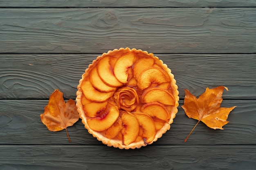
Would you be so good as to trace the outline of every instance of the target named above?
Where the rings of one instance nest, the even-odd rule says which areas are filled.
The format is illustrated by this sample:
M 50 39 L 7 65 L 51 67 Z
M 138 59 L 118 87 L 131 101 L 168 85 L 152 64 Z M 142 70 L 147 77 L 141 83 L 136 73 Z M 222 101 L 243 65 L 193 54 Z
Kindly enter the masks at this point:
M 255 8 L 2 8 L 0 21 L 0 53 L 256 53 Z

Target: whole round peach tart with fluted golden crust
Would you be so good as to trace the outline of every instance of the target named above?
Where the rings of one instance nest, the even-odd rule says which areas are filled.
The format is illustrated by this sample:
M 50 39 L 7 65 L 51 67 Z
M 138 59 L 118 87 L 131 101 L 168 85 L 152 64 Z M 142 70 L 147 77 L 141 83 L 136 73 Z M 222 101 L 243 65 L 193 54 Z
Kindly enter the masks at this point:
M 178 106 L 171 70 L 152 53 L 121 48 L 97 57 L 77 86 L 85 128 L 120 149 L 152 144 L 170 129 Z

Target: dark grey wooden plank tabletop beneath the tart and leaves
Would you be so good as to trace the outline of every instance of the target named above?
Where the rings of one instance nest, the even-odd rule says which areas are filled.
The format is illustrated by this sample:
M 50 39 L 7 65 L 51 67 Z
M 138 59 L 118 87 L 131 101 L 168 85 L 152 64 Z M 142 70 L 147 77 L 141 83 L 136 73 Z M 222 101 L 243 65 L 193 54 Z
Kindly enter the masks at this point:
M 0 169 L 255 170 L 255 0 L 0 0 Z M 56 89 L 76 98 L 98 55 L 130 47 L 154 53 L 180 91 L 226 86 L 237 106 L 225 130 L 198 124 L 179 106 L 171 129 L 135 150 L 97 141 L 81 119 L 50 132 L 40 120 Z

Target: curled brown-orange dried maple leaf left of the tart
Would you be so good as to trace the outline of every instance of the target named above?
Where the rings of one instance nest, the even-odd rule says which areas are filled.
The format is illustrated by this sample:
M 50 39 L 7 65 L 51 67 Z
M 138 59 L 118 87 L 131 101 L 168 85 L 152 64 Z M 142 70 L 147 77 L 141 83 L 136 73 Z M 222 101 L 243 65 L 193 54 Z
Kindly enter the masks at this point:
M 65 103 L 63 93 L 56 89 L 50 96 L 48 105 L 45 106 L 45 112 L 40 117 L 50 131 L 56 132 L 66 129 L 67 132 L 67 127 L 78 121 L 79 113 L 74 100 L 69 99 Z M 67 137 L 70 141 L 68 132 Z

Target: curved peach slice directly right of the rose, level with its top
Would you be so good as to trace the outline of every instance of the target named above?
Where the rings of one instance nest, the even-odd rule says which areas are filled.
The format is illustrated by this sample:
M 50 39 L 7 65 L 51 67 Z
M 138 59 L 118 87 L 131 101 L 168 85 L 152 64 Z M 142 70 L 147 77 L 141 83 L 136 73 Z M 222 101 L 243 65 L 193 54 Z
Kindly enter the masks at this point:
M 142 103 L 160 102 L 166 105 L 175 105 L 173 95 L 166 89 L 149 88 L 141 95 Z

